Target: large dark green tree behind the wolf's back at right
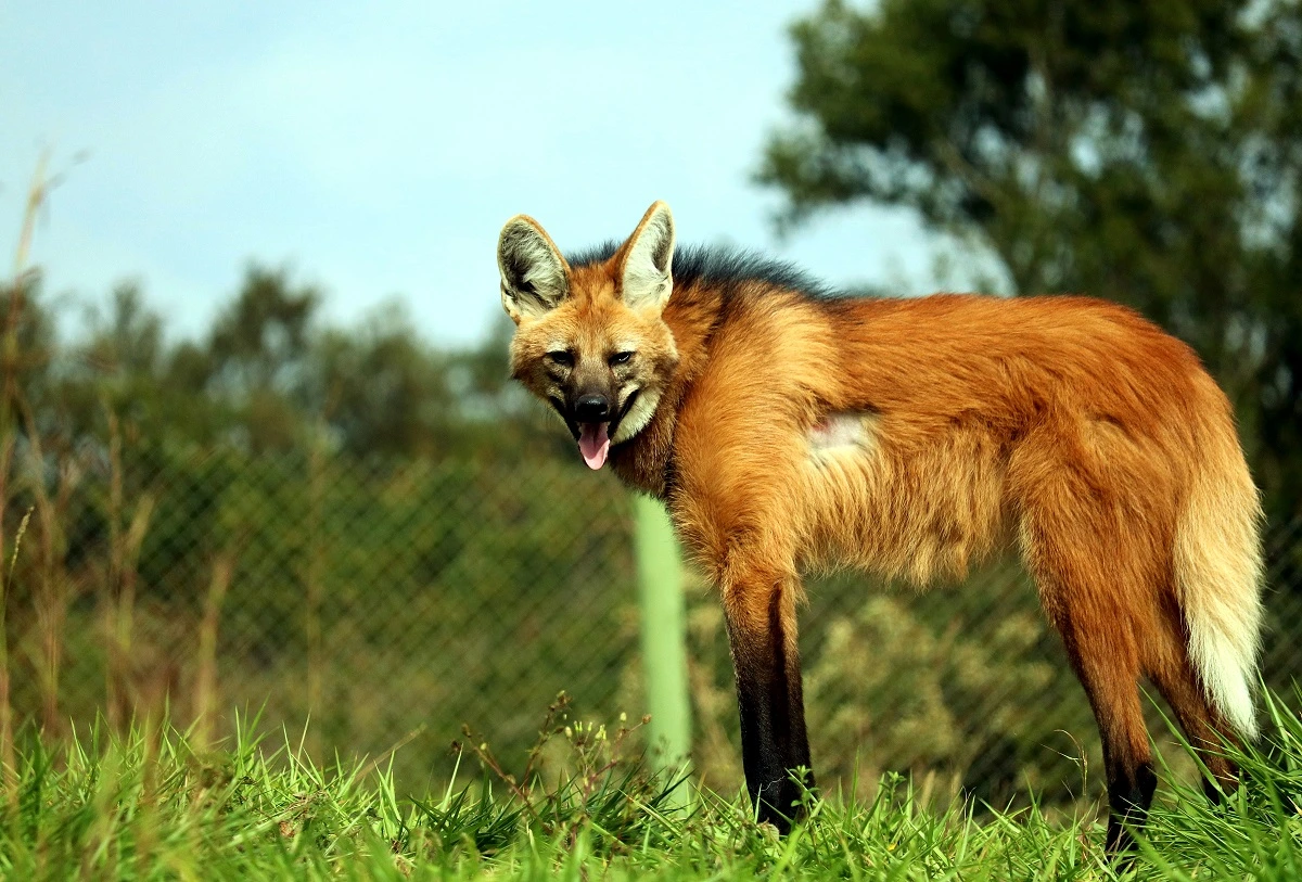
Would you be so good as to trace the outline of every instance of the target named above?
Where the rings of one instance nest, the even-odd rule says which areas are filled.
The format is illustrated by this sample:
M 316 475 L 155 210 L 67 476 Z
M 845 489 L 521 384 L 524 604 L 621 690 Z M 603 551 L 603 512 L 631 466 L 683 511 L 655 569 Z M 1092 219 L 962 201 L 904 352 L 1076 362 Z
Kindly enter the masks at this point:
M 1079 291 L 1189 341 L 1277 519 L 1302 514 L 1302 9 L 828 0 L 792 35 L 786 222 L 909 206 L 1017 293 Z

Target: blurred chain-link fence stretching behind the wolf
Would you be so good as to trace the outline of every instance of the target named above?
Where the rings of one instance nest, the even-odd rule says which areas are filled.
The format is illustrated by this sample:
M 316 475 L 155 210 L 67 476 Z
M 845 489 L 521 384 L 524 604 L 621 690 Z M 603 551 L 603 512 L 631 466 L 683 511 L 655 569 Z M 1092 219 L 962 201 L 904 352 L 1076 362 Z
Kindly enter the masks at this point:
M 57 463 L 20 448 L 13 462 L 13 702 L 47 732 L 98 714 L 121 725 L 142 702 L 202 717 L 215 735 L 236 712 L 260 714 L 296 742 L 306 727 L 320 757 L 402 743 L 396 770 L 419 792 L 450 771 L 464 723 L 514 762 L 561 689 L 581 718 L 643 710 L 629 496 L 609 475 L 547 459 L 116 445 Z M 1264 676 L 1288 687 L 1302 660 L 1302 522 L 1273 526 L 1267 550 Z M 862 575 L 807 593 L 801 644 L 824 784 L 907 770 L 992 801 L 1081 794 L 1094 722 L 1016 566 L 926 595 Z M 736 787 L 723 615 L 699 580 L 687 628 L 697 768 Z

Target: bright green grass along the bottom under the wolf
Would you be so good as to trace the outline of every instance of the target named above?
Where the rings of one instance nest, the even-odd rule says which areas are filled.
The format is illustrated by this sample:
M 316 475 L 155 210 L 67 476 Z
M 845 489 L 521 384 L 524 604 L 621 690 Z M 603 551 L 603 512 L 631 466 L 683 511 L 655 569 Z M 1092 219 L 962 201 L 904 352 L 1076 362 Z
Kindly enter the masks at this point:
M 624 728 L 566 727 L 555 710 L 518 782 L 471 743 L 462 761 L 480 765 L 480 783 L 415 799 L 395 791 L 388 761 L 320 768 L 286 739 L 197 751 L 165 726 L 30 739 L 16 799 L 0 800 L 0 875 L 1302 878 L 1302 721 L 1277 700 L 1262 743 L 1238 757 L 1246 786 L 1212 808 L 1198 782 L 1167 775 L 1125 869 L 1104 857 L 1095 812 L 932 809 L 898 778 L 871 803 L 812 801 L 810 821 L 779 839 L 740 797 L 676 788 L 622 757 Z M 684 788 L 686 812 L 673 808 Z

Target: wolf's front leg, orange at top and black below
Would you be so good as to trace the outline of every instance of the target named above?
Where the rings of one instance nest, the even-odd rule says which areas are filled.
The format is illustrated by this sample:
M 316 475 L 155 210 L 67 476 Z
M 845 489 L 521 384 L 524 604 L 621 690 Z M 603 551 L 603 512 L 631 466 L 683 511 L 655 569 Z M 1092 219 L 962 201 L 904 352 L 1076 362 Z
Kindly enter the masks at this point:
M 803 769 L 805 786 L 814 787 L 796 639 L 798 583 L 792 576 L 751 572 L 721 588 L 737 674 L 746 788 L 759 820 L 786 833 L 803 812 L 792 773 Z

